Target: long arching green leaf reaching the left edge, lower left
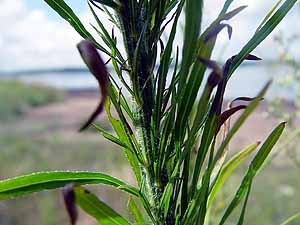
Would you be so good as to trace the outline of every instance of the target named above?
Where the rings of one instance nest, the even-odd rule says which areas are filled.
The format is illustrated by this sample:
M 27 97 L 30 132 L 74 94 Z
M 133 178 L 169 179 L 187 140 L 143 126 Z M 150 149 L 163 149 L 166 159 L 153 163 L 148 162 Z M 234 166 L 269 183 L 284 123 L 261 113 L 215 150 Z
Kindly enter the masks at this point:
M 0 181 L 0 200 L 15 198 L 43 190 L 64 187 L 69 183 L 75 184 L 105 184 L 139 196 L 139 191 L 125 182 L 103 173 L 96 172 L 40 172 L 26 176 L 15 177 Z

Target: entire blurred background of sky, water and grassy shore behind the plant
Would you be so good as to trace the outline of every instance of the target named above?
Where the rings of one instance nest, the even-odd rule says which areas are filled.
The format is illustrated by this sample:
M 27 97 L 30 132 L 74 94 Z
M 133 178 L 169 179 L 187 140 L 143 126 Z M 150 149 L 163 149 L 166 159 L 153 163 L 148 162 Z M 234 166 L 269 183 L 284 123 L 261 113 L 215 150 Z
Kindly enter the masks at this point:
M 94 23 L 86 1 L 68 0 L 86 27 Z M 216 17 L 223 0 L 206 1 L 204 27 Z M 232 40 L 222 32 L 213 58 L 220 63 L 249 40 L 275 0 L 236 0 L 248 8 L 230 21 Z M 93 170 L 133 182 L 122 151 L 92 129 L 77 130 L 98 100 L 97 82 L 85 69 L 76 44 L 80 36 L 43 0 L 0 0 L 0 178 L 43 170 Z M 229 82 L 226 99 L 255 96 L 273 79 L 265 101 L 242 127 L 230 148 L 234 153 L 263 141 L 278 122 L 288 129 L 269 163 L 255 179 L 248 225 L 277 225 L 300 212 L 300 6 L 291 11 L 254 54 L 262 62 L 244 64 Z M 109 25 L 108 25 L 109 26 Z M 177 37 L 180 45 L 181 36 Z M 110 130 L 105 115 L 99 123 Z M 297 126 L 298 125 L 298 126 Z M 218 196 L 214 215 L 235 192 L 241 167 Z M 91 187 L 120 213 L 126 195 Z M 234 218 L 232 221 L 235 221 Z M 0 202 L 1 225 L 68 224 L 59 191 Z M 87 216 L 84 225 L 96 224 Z M 300 222 L 295 222 L 299 225 Z

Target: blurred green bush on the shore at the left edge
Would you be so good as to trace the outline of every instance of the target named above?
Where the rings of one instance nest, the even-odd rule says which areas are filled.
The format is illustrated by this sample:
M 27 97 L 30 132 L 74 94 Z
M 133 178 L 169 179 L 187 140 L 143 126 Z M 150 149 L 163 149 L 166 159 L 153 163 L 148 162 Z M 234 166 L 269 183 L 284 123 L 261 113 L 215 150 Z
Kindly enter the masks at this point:
M 2 80 L 0 82 L 0 120 L 15 119 L 30 107 L 61 101 L 63 97 L 62 91 L 53 88 Z

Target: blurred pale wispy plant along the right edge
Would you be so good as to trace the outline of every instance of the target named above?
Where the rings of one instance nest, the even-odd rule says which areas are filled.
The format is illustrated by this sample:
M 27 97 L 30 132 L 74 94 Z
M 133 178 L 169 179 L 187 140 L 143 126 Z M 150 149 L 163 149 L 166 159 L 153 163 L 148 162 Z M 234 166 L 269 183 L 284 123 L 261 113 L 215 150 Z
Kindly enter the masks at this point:
M 278 148 L 285 153 L 291 161 L 300 168 L 300 61 L 293 56 L 291 49 L 299 43 L 299 34 L 285 37 L 282 33 L 276 36 L 279 46 L 279 59 L 281 66 L 285 66 L 286 76 L 276 80 L 276 85 L 288 92 L 288 98 L 276 97 L 269 106 L 269 111 L 277 118 L 288 121 L 287 132 Z

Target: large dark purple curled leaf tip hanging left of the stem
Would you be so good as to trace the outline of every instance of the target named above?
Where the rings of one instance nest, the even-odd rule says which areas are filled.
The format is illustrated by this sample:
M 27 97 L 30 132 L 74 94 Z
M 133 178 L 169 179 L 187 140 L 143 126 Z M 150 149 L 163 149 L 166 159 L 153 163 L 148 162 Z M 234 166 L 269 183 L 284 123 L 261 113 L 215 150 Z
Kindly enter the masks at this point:
M 88 40 L 83 40 L 77 45 L 77 48 L 88 69 L 98 81 L 99 88 L 101 91 L 101 100 L 96 110 L 92 113 L 87 122 L 80 128 L 80 131 L 83 131 L 89 125 L 91 125 L 91 123 L 93 123 L 96 117 L 103 111 L 104 103 L 108 93 L 107 86 L 109 82 L 109 77 L 105 63 L 101 59 L 96 47 L 92 42 Z

